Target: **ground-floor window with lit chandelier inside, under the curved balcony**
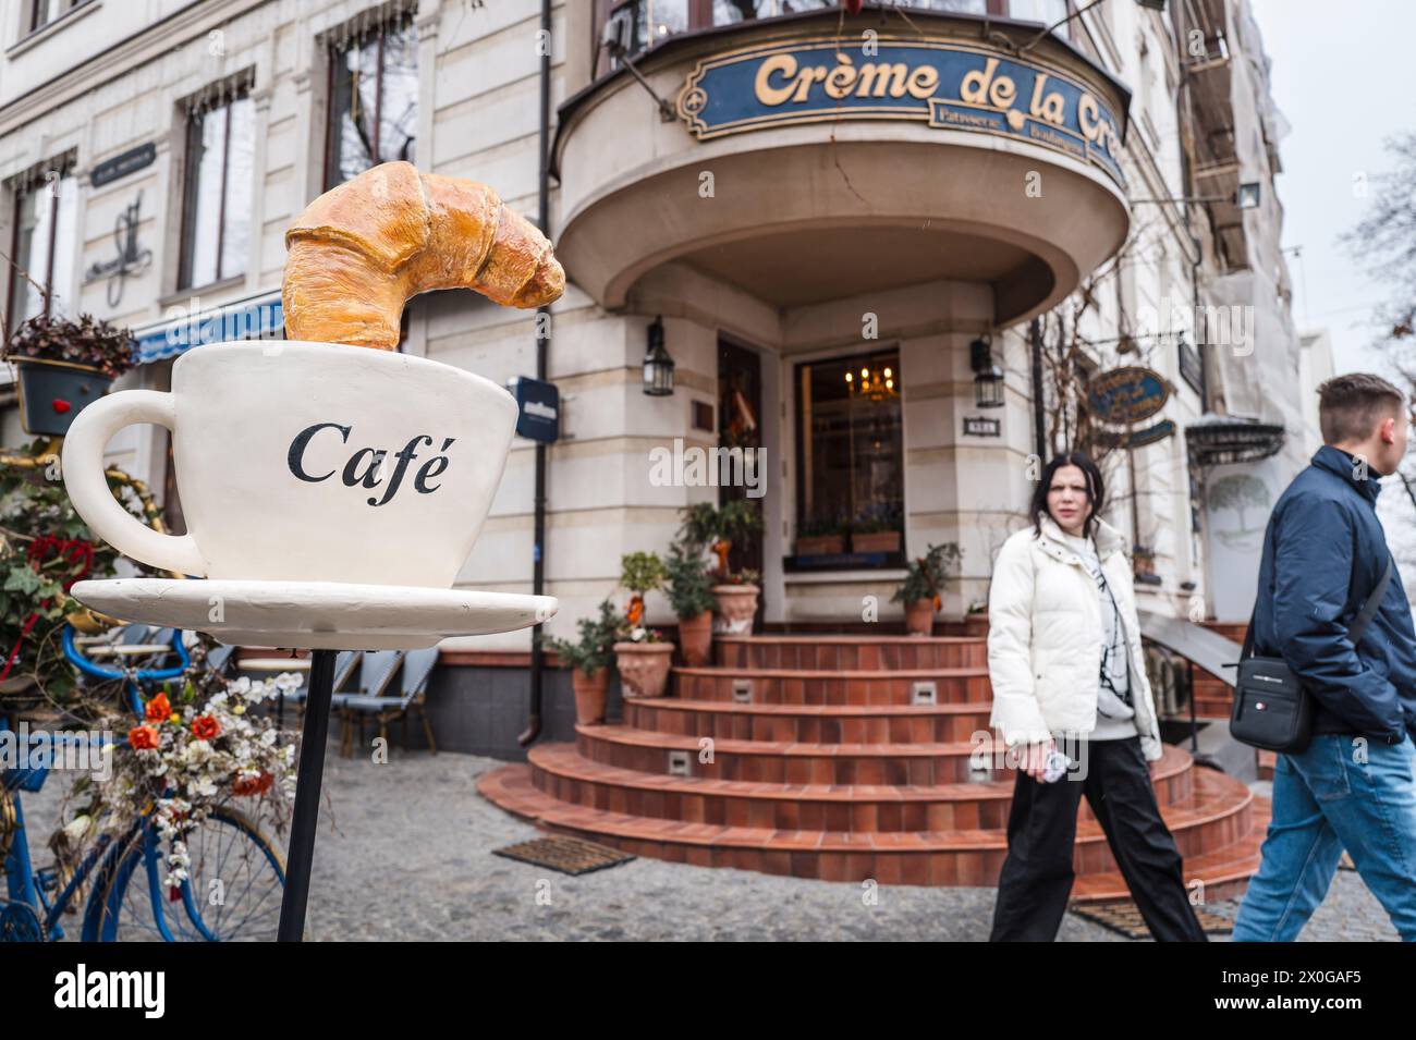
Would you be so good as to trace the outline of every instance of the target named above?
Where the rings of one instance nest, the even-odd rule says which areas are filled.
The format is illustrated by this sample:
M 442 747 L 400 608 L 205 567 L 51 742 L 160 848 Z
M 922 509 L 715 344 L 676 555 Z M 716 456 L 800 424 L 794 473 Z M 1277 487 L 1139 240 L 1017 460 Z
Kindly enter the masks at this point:
M 903 531 L 899 351 L 796 366 L 797 529 Z

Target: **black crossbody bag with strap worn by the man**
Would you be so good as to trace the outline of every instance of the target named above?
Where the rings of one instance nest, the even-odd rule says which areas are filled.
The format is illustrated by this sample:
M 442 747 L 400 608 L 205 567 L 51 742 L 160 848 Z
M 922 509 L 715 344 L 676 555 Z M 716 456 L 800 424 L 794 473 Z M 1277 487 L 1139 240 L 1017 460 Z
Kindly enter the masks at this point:
M 1392 580 L 1392 556 L 1386 555 L 1386 570 L 1376 589 L 1366 597 L 1357 620 L 1347 630 L 1357 647 L 1368 623 L 1386 596 Z M 1259 604 L 1255 604 L 1257 613 Z M 1235 706 L 1229 716 L 1229 733 L 1235 740 L 1269 751 L 1297 754 L 1313 740 L 1313 695 L 1303 689 L 1281 657 L 1253 655 L 1253 614 L 1239 654 L 1239 674 L 1235 679 Z M 1228 666 L 1228 665 L 1226 665 Z

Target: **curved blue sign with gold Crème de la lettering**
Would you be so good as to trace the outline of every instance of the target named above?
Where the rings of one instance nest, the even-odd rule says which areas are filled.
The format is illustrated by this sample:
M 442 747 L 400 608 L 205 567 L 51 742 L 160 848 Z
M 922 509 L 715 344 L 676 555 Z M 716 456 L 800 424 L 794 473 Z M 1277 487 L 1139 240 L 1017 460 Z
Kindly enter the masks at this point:
M 1025 140 L 1104 170 L 1124 187 L 1124 123 L 1042 61 L 990 47 L 877 35 L 746 47 L 698 62 L 678 113 L 700 140 L 828 119 L 918 119 Z

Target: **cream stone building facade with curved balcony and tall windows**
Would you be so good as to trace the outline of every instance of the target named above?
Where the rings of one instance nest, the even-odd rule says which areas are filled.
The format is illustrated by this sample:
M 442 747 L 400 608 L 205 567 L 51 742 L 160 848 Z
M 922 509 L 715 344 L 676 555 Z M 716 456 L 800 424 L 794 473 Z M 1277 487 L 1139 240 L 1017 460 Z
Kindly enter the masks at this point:
M 905 560 L 944 542 L 960 618 L 1039 460 L 1079 441 L 1104 449 L 1143 607 L 1246 616 L 1238 586 L 1216 599 L 1205 488 L 1215 460 L 1277 487 L 1306 458 L 1281 126 L 1246 0 L 1155 7 L 6 4 L 7 328 L 45 308 L 127 325 L 143 364 L 120 386 L 166 389 L 185 349 L 280 334 L 283 232 L 321 191 L 404 158 L 535 219 L 545 178 L 568 276 L 549 323 L 435 293 L 399 349 L 506 382 L 544 347 L 552 634 L 615 589 L 622 553 L 664 550 L 684 507 L 725 497 L 763 512 L 736 550 L 762 627 L 898 625 Z M 644 393 L 651 328 L 671 395 Z M 1161 381 L 1144 430 L 1087 405 L 1130 366 Z M 1262 460 L 1197 458 L 1191 430 L 1245 423 L 1277 430 Z M 13 408 L 3 433 L 24 439 Z M 181 529 L 166 430 L 109 451 Z M 518 437 L 460 586 L 530 589 L 534 460 Z M 884 538 L 820 541 L 843 526 Z M 445 649 L 521 665 L 528 645 Z

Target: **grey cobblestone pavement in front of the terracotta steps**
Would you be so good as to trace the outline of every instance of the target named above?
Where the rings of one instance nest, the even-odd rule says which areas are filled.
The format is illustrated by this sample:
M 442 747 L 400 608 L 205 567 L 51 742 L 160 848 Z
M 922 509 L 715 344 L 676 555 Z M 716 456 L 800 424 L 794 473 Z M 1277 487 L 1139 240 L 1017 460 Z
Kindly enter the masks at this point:
M 988 938 L 993 889 L 884 886 L 868 906 L 857 884 L 654 859 L 571 877 L 493 856 L 541 833 L 476 792 L 476 778 L 500 761 L 396 749 L 391 757 L 375 765 L 330 746 L 310 883 L 314 940 Z M 62 780 L 24 795 L 40 859 Z M 1211 907 L 1228 917 L 1236 908 Z M 1127 941 L 1072 914 L 1058 938 Z M 1301 938 L 1395 940 L 1396 931 L 1362 880 L 1340 870 Z

